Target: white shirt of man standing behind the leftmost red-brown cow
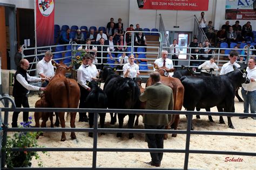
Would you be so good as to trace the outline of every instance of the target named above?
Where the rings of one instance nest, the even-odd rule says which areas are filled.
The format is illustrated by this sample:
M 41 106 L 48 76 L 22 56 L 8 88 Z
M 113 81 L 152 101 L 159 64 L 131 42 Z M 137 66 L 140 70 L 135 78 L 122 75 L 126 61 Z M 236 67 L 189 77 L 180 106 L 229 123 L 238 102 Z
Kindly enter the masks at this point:
M 45 61 L 44 58 L 37 63 L 38 74 L 44 74 L 46 77 L 54 76 L 54 67 L 52 66 L 51 60 L 49 62 Z

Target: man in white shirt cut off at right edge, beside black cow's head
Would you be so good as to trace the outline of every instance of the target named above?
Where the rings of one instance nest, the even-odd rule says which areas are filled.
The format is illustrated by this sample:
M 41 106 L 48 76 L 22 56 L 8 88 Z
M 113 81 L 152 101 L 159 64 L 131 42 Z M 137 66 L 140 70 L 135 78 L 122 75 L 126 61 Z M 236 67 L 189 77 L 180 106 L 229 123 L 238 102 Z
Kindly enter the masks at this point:
M 248 67 L 246 68 L 247 77 L 250 79 L 250 83 L 242 84 L 242 98 L 244 98 L 244 113 L 249 113 L 249 105 L 251 114 L 255 114 L 255 105 L 256 105 L 256 67 L 254 57 L 248 60 Z M 247 117 L 239 117 L 244 119 Z M 252 117 L 254 120 L 256 117 Z

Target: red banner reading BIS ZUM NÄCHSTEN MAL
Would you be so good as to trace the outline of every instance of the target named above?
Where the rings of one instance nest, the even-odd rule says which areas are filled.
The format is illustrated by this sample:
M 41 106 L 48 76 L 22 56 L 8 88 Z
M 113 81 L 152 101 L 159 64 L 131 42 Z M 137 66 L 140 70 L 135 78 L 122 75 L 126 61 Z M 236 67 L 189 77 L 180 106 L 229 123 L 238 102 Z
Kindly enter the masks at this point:
M 208 0 L 144 0 L 141 9 L 207 11 Z

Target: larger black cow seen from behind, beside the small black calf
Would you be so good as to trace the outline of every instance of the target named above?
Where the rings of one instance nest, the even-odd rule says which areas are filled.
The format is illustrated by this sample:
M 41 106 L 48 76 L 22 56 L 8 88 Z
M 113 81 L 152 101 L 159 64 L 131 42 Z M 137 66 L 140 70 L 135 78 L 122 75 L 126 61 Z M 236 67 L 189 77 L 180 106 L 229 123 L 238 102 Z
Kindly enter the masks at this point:
M 100 77 L 105 81 L 104 92 L 107 95 L 107 108 L 109 109 L 138 109 L 140 90 L 138 84 L 130 79 L 116 75 L 111 67 L 105 67 L 100 72 Z M 132 129 L 135 114 L 129 115 L 128 128 Z M 119 128 L 123 128 L 125 114 L 118 114 Z M 122 133 L 117 133 L 122 137 Z M 133 133 L 129 134 L 129 139 Z

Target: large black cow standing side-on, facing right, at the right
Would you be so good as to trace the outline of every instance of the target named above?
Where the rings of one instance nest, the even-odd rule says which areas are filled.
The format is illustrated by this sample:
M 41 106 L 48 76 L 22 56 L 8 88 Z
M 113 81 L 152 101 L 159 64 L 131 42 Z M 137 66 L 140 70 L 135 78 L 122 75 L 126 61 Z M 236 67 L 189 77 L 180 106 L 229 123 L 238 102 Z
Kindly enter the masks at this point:
M 235 89 L 241 83 L 250 82 L 246 77 L 246 71 L 240 69 L 213 77 L 183 76 L 180 80 L 185 88 L 183 106 L 190 111 L 194 111 L 195 107 L 212 108 L 217 106 L 218 110 L 224 108 L 225 112 L 232 112 Z M 234 129 L 231 117 L 227 117 L 227 120 L 228 128 Z M 191 129 L 193 130 L 193 126 Z

